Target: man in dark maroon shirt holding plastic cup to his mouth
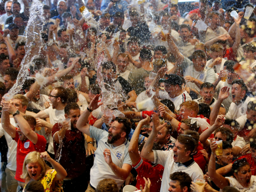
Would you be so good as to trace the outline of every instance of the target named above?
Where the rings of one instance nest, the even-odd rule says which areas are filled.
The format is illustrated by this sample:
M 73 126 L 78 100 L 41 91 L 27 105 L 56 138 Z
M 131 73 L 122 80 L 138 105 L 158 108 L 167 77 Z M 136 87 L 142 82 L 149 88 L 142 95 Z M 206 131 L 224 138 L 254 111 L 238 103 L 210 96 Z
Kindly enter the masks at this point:
M 83 133 L 76 128 L 80 109 L 78 104 L 69 103 L 65 106 L 64 111 L 65 121 L 63 124 L 56 123 L 52 128 L 54 153 L 57 155 L 61 150 L 59 163 L 68 174 L 63 181 L 63 191 L 84 192 L 87 189 L 87 182 L 84 182 L 86 181 L 87 153 L 84 148 Z M 60 146 L 60 142 L 62 142 L 62 146 Z M 92 143 L 89 142 L 87 145 L 93 146 Z

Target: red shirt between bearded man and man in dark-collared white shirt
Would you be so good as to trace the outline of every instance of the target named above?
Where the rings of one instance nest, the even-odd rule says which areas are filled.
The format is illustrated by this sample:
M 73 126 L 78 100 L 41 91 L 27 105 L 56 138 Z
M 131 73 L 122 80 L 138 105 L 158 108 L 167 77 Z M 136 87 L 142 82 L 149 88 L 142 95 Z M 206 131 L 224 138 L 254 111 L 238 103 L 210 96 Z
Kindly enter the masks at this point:
M 136 163 L 136 165 L 132 165 L 137 173 L 138 179 L 136 188 L 140 189 L 140 185 L 142 188 L 145 187 L 145 181 L 143 177 L 149 178 L 151 181 L 150 192 L 159 192 L 162 183 L 163 169 L 164 167 L 160 164 L 151 165 L 151 163 L 145 162 L 142 159 Z

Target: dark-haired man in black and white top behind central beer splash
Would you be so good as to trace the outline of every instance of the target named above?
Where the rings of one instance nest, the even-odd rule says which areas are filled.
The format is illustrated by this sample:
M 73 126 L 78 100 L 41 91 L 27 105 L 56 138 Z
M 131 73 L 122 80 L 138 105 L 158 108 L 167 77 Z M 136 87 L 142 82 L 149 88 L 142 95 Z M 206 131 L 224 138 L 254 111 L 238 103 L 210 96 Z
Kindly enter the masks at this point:
M 114 86 L 116 89 L 123 90 L 130 97 L 126 102 L 136 101 L 137 95 L 135 91 L 127 80 L 116 74 L 116 65 L 112 61 L 102 64 L 102 75 L 105 83 Z

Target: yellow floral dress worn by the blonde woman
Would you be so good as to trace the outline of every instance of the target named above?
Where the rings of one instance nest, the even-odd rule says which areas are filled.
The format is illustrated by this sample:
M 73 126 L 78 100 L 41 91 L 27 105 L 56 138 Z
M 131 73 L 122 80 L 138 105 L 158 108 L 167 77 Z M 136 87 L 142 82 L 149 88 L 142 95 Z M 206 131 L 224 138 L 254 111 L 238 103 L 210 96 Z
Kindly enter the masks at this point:
M 51 169 L 46 176 L 44 176 L 41 180 L 39 180 L 45 188 L 45 192 L 63 192 L 63 180 L 58 180 L 55 181 L 55 189 L 51 188 L 53 179 L 55 177 L 55 175 L 57 174 L 55 169 Z M 26 186 L 25 186 L 26 187 Z M 25 189 L 23 189 L 23 192 L 25 191 Z

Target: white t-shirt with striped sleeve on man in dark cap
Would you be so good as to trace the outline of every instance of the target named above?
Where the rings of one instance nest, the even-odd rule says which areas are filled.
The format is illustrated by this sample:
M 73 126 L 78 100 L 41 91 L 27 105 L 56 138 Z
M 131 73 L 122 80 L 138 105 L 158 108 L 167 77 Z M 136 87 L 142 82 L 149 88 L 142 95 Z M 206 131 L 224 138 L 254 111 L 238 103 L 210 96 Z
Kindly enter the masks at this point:
M 185 101 L 192 101 L 192 98 L 188 94 L 187 91 L 184 91 L 182 94 L 180 94 L 177 97 L 171 98 L 166 91 L 159 91 L 159 97 L 161 99 L 169 99 L 173 102 L 175 109 L 180 110 L 180 104 Z

